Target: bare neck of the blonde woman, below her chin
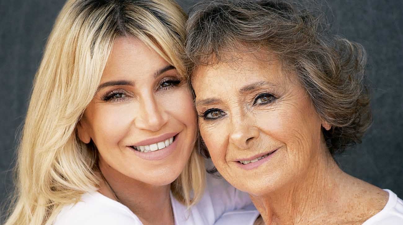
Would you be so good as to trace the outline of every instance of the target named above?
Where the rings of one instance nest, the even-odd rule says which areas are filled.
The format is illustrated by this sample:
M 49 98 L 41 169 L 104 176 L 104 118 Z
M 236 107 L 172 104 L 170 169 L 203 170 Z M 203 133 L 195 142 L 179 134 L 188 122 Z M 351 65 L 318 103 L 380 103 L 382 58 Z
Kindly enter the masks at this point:
M 100 193 L 128 207 L 144 225 L 174 224 L 170 184 L 154 186 L 139 182 L 112 169 L 102 160 L 99 167 L 107 181 L 100 183 Z

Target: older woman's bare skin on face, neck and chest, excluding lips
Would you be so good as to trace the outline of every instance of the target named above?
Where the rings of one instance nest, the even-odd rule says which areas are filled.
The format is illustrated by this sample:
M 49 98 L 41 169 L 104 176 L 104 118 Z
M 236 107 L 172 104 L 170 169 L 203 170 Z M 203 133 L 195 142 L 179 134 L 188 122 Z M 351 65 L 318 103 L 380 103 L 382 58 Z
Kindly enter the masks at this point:
M 279 61 L 243 55 L 199 67 L 192 85 L 212 161 L 226 180 L 250 194 L 262 215 L 255 224 L 358 225 L 386 204 L 385 191 L 334 162 L 321 132 L 331 126 Z M 240 166 L 239 160 L 274 150 L 256 168 Z

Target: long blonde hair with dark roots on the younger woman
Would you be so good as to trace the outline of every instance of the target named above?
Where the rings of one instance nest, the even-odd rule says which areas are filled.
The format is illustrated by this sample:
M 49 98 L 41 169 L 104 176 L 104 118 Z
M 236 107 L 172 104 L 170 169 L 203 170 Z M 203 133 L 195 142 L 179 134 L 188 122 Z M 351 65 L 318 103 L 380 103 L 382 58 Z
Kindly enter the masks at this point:
M 14 207 L 5 225 L 50 225 L 64 205 L 97 189 L 97 151 L 79 140 L 76 125 L 98 88 L 114 40 L 139 39 L 185 77 L 186 19 L 172 0 L 66 2 L 35 76 L 18 149 Z M 195 204 L 204 191 L 204 171 L 195 147 L 171 184 L 175 198 Z

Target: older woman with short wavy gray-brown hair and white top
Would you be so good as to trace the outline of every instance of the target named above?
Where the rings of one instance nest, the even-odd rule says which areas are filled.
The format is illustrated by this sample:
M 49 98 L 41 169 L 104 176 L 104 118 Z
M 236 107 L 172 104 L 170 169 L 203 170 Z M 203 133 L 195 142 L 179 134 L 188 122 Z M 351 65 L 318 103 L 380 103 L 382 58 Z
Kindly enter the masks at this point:
M 332 158 L 371 115 L 364 50 L 319 22 L 278 0 L 199 5 L 186 51 L 202 138 L 266 224 L 403 224 L 396 194 Z

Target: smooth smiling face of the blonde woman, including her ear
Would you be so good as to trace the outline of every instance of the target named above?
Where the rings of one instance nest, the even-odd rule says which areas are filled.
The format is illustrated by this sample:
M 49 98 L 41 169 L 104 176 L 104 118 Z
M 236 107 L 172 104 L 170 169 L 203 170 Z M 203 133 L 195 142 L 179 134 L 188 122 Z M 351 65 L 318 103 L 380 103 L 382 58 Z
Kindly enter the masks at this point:
M 121 37 L 78 132 L 95 143 L 105 169 L 166 185 L 189 160 L 196 122 L 191 92 L 177 70 L 137 39 Z

